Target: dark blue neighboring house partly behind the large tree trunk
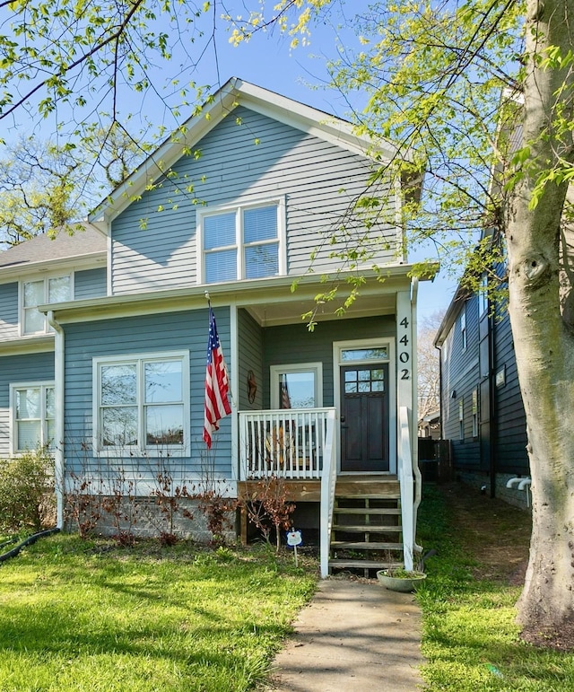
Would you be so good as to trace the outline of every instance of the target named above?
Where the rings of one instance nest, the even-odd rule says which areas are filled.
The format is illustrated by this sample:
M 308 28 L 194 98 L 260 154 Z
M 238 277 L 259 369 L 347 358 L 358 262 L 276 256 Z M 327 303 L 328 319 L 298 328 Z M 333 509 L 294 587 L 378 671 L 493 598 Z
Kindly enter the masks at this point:
M 499 272 L 500 273 L 500 272 Z M 511 504 L 529 506 L 526 416 L 506 306 L 459 286 L 439 328 L 440 420 L 454 474 Z

